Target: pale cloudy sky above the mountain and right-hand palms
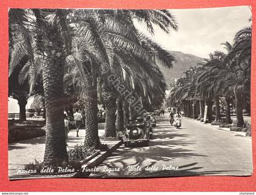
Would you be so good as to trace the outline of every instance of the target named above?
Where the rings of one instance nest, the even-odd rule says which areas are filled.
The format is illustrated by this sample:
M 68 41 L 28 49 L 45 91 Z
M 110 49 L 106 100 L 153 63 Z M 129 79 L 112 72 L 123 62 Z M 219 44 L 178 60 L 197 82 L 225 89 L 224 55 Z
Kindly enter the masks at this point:
M 155 27 L 155 40 L 170 51 L 203 58 L 216 50 L 226 52 L 221 43 L 233 43 L 235 33 L 251 25 L 248 20 L 252 15 L 249 6 L 173 9 L 169 12 L 176 16 L 179 30 L 166 34 Z

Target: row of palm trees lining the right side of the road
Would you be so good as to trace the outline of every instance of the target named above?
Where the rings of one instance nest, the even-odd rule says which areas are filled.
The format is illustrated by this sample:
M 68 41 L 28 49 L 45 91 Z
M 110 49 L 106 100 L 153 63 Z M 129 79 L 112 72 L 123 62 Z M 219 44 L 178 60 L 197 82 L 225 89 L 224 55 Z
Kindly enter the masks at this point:
M 252 29 L 245 27 L 235 34 L 233 44 L 222 43 L 227 54 L 215 51 L 209 55 L 210 59 L 188 69 L 172 86 L 166 99 L 168 105 L 180 107 L 193 118 L 196 113 L 204 118 L 207 105 L 207 118 L 212 121 L 214 103 L 215 121 L 221 121 L 219 101 L 222 99 L 226 107 L 225 121 L 230 124 L 230 104 L 234 102 L 236 126 L 243 127 L 243 109 L 249 111 L 250 107 L 251 40 Z

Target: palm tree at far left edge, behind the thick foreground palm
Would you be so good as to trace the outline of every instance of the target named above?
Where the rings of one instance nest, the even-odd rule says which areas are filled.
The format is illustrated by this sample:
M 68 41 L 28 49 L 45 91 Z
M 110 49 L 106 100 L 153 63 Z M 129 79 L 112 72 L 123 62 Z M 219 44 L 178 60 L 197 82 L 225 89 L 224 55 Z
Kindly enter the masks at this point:
M 18 100 L 20 120 L 26 120 L 26 104 L 29 85 L 20 82 L 20 72 L 30 63 L 33 55 L 32 34 L 27 26 L 29 12 L 26 9 L 9 10 L 9 96 Z

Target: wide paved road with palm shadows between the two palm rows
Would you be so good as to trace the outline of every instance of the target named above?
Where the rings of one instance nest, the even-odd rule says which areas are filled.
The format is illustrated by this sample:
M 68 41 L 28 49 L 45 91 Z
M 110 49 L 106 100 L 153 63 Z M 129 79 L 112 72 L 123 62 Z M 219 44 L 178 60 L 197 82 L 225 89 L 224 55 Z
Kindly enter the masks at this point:
M 177 130 L 163 116 L 149 147 L 121 146 L 98 168 L 90 177 L 249 176 L 252 141 L 187 118 Z

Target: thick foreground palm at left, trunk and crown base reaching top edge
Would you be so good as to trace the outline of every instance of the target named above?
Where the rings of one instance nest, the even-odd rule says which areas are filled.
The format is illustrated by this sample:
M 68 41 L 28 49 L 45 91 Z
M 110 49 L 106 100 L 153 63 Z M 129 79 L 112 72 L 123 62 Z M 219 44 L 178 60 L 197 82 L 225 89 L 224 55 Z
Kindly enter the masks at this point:
M 46 108 L 44 166 L 60 166 L 68 161 L 63 116 L 63 77 L 68 45 L 63 37 L 66 13 L 63 10 L 33 10 L 37 19 L 37 52 L 42 66 Z M 41 43 L 43 41 L 43 43 Z

